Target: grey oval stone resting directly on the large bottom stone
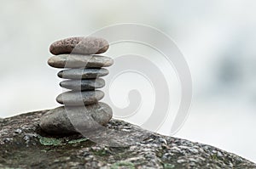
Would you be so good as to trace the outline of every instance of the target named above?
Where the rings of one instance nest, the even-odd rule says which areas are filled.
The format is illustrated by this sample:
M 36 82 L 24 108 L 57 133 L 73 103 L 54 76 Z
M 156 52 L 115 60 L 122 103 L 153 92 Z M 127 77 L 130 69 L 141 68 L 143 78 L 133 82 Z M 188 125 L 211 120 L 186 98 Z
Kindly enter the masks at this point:
M 57 96 L 56 101 L 60 104 L 76 106 L 95 104 L 103 97 L 104 93 L 100 90 L 84 92 L 69 91 Z

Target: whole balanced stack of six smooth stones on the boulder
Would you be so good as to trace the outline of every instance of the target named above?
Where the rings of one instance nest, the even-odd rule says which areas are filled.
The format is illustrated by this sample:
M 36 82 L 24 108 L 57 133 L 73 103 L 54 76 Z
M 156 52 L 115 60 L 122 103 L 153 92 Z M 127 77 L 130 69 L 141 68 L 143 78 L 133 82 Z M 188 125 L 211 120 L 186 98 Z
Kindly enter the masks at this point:
M 98 102 L 104 93 L 101 76 L 108 75 L 102 67 L 113 65 L 113 59 L 98 55 L 108 50 L 108 42 L 97 37 L 70 37 L 53 42 L 49 52 L 55 54 L 48 64 L 61 70 L 58 76 L 64 80 L 61 87 L 70 91 L 61 93 L 56 101 L 65 106 L 49 110 L 41 117 L 39 126 L 52 134 L 74 133 L 79 129 L 90 130 L 95 124 L 106 125 L 112 118 L 108 104 Z

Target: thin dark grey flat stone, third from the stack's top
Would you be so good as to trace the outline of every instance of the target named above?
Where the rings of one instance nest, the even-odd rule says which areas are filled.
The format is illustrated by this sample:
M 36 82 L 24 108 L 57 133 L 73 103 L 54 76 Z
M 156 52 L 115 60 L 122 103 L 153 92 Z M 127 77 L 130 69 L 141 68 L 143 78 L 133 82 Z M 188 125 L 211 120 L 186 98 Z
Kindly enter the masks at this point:
M 58 76 L 63 79 L 95 79 L 100 76 L 107 76 L 108 70 L 101 69 L 71 69 L 71 70 L 61 70 Z

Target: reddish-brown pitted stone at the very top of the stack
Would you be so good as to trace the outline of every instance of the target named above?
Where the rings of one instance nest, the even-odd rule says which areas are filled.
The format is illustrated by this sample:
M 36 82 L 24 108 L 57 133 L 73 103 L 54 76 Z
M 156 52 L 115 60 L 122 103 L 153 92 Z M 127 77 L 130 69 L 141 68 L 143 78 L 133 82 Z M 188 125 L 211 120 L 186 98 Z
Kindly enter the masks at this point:
M 53 42 L 51 54 L 102 54 L 108 50 L 108 41 L 99 37 L 69 37 Z

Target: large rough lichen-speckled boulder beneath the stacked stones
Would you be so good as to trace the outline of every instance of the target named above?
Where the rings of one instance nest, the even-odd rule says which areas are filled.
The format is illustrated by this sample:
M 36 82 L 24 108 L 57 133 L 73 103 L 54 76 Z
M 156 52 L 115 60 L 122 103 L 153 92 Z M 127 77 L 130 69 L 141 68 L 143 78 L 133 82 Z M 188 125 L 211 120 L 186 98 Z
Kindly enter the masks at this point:
M 79 134 L 54 137 L 40 130 L 44 111 L 0 120 L 0 168 L 256 168 L 238 155 L 206 144 L 157 133 L 129 147 L 114 148 Z M 109 128 L 137 132 L 111 120 Z

